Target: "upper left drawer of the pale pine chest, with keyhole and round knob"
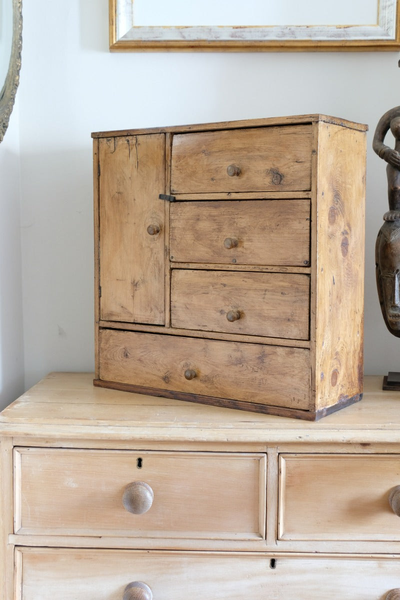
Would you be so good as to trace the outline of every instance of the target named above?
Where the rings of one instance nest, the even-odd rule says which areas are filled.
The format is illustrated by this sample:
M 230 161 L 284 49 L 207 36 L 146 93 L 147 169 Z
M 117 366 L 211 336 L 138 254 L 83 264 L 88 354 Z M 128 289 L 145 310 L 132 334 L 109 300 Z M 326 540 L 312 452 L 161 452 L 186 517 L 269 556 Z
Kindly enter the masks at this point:
M 264 454 L 19 448 L 14 463 L 16 533 L 265 537 Z

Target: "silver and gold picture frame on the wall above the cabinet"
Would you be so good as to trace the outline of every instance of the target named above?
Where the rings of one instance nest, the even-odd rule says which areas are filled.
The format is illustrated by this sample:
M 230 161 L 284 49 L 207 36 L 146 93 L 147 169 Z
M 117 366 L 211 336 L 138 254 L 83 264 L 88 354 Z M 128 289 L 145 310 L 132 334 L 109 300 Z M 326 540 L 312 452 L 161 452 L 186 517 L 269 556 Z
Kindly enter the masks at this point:
M 149 27 L 134 25 L 133 0 L 109 0 L 110 51 L 395 50 L 400 47 L 399 4 L 378 2 L 374 25 Z

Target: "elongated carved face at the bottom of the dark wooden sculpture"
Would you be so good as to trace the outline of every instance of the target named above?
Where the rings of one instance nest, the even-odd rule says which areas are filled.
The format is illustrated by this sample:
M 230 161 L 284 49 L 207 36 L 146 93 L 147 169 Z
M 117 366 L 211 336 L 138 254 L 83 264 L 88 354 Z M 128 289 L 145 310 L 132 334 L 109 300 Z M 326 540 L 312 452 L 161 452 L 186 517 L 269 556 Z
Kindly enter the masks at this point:
M 400 220 L 386 221 L 375 248 L 381 310 L 390 333 L 400 337 Z

